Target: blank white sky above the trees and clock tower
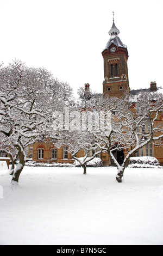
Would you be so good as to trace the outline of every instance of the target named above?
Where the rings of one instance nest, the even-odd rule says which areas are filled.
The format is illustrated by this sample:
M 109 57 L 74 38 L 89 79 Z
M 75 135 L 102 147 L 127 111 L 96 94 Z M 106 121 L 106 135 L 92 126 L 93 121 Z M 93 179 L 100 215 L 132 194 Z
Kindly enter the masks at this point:
M 44 66 L 77 88 L 102 93 L 102 51 L 112 11 L 128 47 L 130 89 L 162 83 L 163 0 L 0 0 L 0 63 Z

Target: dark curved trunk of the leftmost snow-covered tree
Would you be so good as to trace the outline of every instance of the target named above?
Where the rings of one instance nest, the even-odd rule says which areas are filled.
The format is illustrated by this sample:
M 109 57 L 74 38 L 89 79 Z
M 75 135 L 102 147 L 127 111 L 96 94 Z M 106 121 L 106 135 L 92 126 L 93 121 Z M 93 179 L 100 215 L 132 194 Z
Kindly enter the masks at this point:
M 14 173 L 12 175 L 12 180 L 11 180 L 11 186 L 15 186 L 15 187 L 18 185 L 18 179 L 20 177 L 24 164 L 26 163 L 25 156 L 22 152 L 21 147 L 17 146 L 17 149 L 18 149 L 18 157 L 20 162 L 18 163 L 18 166 L 14 170 Z

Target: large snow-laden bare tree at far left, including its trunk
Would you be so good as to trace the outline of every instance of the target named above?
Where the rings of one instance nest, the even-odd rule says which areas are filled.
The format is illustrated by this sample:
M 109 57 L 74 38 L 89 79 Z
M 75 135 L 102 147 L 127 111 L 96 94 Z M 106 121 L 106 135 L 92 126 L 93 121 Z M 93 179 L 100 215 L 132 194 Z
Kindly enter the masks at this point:
M 28 68 L 20 60 L 0 69 L 0 132 L 17 151 L 18 166 L 11 184 L 17 185 L 26 162 L 24 148 L 52 130 L 52 114 L 71 93 L 66 83 L 44 68 Z

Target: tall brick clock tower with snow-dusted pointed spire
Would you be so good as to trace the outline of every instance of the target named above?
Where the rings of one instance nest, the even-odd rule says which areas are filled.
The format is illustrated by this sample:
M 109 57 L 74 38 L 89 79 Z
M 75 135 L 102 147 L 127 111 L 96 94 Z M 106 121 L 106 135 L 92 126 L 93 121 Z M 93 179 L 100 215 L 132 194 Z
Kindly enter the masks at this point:
M 114 23 L 109 31 L 110 39 L 106 44 L 102 56 L 104 59 L 103 93 L 120 97 L 124 92 L 129 92 L 128 81 L 128 51 L 119 38 L 120 31 Z

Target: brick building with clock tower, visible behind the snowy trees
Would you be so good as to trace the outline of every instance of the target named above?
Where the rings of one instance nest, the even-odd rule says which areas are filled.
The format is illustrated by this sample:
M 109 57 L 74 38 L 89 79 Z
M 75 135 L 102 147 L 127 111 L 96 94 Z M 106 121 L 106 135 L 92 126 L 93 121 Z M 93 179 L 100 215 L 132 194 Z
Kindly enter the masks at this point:
M 129 79 L 128 79 L 128 50 L 127 46 L 124 45 L 118 36 L 120 34 L 119 29 L 116 28 L 113 19 L 112 27 L 109 31 L 109 41 L 102 51 L 104 59 L 104 81 L 103 81 L 103 94 L 108 96 L 120 97 L 124 92 L 130 93 L 130 98 L 133 101 L 141 92 L 157 92 L 163 90 L 157 88 L 156 82 L 151 82 L 150 87 L 147 89 L 130 90 Z M 85 84 L 85 90 L 89 90 L 89 84 Z M 158 122 L 163 121 L 163 115 L 159 116 Z M 143 129 L 143 127 L 142 127 Z M 92 154 L 92 153 L 90 153 Z M 124 159 L 127 151 L 116 151 L 114 155 L 118 162 Z M 40 140 L 34 143 L 28 148 L 27 159 L 29 157 L 37 162 L 48 162 L 48 163 L 73 163 L 71 154 L 68 153 L 67 145 L 60 149 L 55 148 L 54 144 L 45 141 L 42 136 Z M 83 151 L 78 153 L 77 157 L 82 157 Z M 163 149 L 160 146 L 149 144 L 140 149 L 135 156 L 154 156 L 163 165 Z M 112 164 L 110 156 L 107 153 L 99 155 L 101 157 L 104 166 Z

